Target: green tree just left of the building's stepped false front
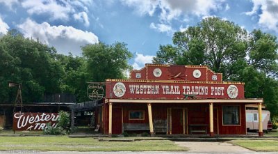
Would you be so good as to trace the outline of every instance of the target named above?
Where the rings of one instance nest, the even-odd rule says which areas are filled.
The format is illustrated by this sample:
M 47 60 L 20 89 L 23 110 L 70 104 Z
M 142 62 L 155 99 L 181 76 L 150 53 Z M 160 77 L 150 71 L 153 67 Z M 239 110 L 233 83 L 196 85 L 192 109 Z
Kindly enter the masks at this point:
M 82 47 L 87 61 L 87 72 L 90 81 L 105 82 L 105 79 L 124 78 L 124 72 L 130 70 L 128 60 L 133 56 L 124 43 L 105 45 L 96 43 Z

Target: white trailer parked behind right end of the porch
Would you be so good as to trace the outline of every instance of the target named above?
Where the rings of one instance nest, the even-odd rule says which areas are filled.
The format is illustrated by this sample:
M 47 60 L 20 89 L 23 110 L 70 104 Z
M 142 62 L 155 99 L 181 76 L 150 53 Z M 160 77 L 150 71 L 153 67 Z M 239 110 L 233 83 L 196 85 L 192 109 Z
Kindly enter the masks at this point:
M 263 122 L 263 130 L 269 131 L 268 121 L 270 121 L 270 111 L 262 110 L 261 118 Z M 246 128 L 247 130 L 259 130 L 259 111 L 256 109 L 246 109 Z

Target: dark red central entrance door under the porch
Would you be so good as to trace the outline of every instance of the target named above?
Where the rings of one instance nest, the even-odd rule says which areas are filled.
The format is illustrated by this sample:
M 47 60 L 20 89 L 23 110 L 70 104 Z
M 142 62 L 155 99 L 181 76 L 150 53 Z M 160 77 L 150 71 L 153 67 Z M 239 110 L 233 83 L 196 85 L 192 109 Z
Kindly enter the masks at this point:
M 172 134 L 183 134 L 183 124 L 186 123 L 186 121 L 183 121 L 183 119 L 186 119 L 185 117 L 183 117 L 183 109 L 172 108 L 171 112 L 172 112 Z

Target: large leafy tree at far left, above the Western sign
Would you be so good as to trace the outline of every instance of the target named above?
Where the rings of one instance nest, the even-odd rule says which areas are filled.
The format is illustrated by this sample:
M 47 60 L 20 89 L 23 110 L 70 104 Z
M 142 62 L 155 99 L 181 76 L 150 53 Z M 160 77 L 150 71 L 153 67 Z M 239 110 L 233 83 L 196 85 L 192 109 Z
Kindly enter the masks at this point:
M 38 41 L 24 38 L 19 31 L 9 31 L 0 38 L 1 102 L 13 102 L 15 88 L 8 89 L 8 82 L 22 83 L 23 102 L 35 102 L 44 93 L 60 92 L 64 75 L 56 61 L 56 50 Z M 7 87 L 7 88 L 6 88 Z M 13 94 L 10 94 L 13 91 Z

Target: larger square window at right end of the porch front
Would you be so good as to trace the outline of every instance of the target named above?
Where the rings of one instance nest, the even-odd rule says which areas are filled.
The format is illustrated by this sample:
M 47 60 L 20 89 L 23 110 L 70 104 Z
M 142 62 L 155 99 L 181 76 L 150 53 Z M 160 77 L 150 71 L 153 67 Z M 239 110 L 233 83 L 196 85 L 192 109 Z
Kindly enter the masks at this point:
M 239 125 L 239 106 L 223 106 L 223 125 Z

